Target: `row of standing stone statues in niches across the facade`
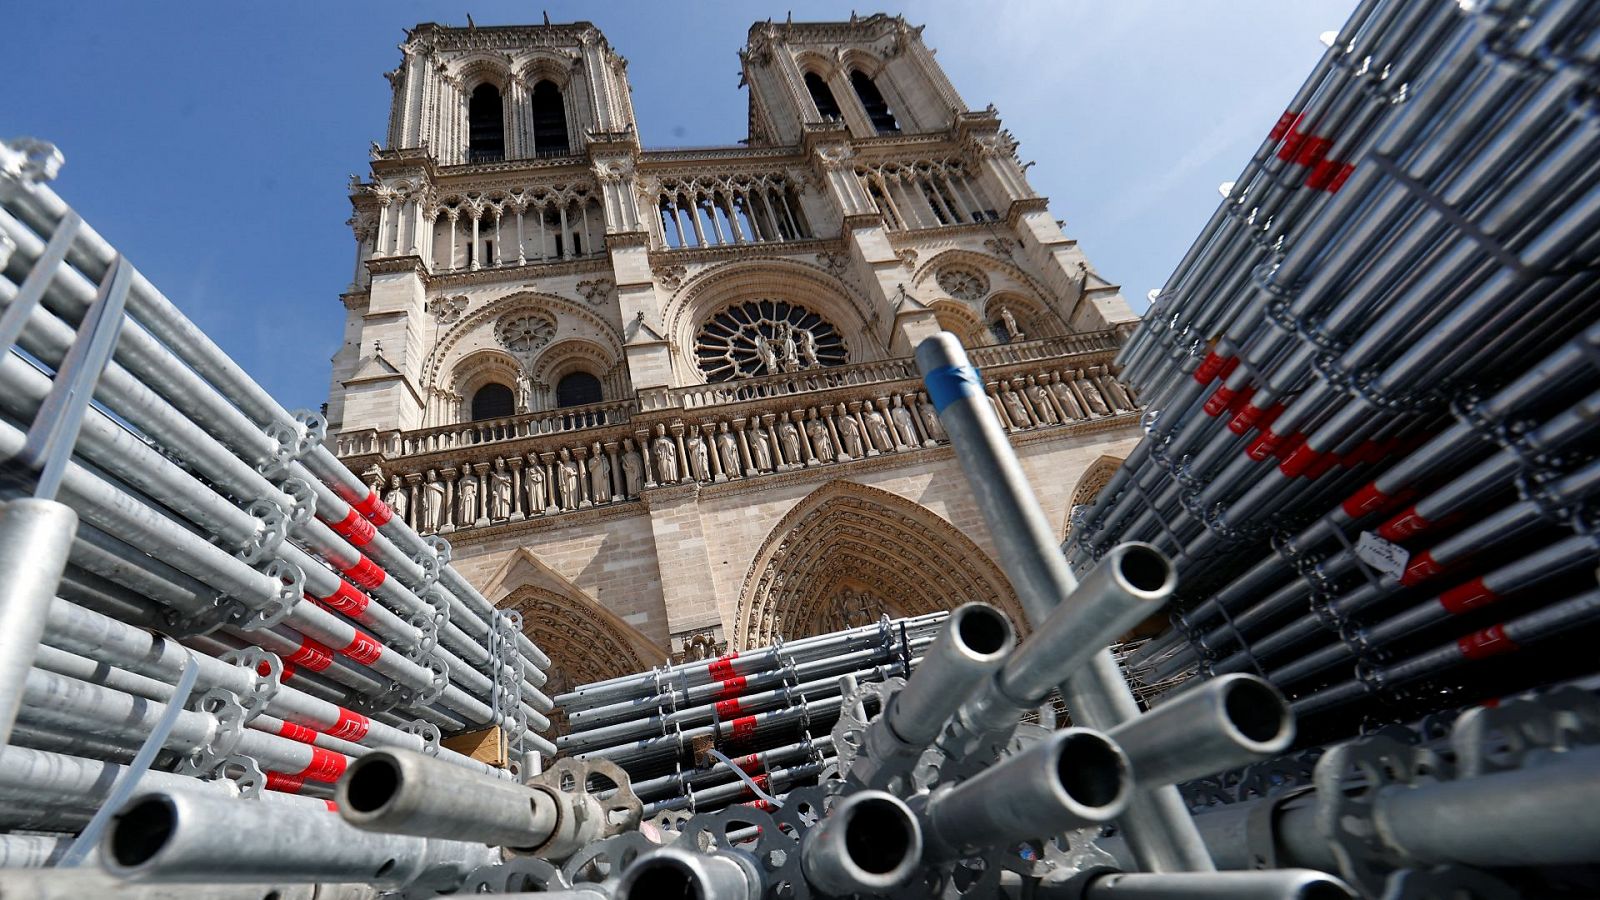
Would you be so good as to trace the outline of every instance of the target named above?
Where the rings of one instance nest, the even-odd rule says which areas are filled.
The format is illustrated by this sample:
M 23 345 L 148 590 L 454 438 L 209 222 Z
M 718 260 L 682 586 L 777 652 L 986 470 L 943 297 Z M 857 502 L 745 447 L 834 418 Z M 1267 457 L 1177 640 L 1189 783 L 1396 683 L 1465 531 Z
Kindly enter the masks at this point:
M 1099 367 L 989 388 L 995 413 L 1013 431 L 1136 410 L 1126 388 Z M 419 532 L 453 532 L 632 500 L 659 485 L 845 463 L 944 439 L 928 396 L 907 391 L 731 421 L 658 423 L 634 437 L 390 476 L 387 484 L 378 474 L 373 488 Z

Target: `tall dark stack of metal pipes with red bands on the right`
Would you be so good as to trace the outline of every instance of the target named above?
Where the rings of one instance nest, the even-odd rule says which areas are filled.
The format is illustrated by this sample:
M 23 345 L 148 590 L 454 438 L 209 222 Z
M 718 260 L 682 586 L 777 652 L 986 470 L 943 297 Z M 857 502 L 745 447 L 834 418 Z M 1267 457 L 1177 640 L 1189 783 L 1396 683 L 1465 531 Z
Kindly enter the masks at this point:
M 1339 32 L 1118 357 L 1147 434 L 1067 551 L 1176 562 L 1141 677 L 1349 722 L 1592 671 L 1597 61 L 1578 2 Z

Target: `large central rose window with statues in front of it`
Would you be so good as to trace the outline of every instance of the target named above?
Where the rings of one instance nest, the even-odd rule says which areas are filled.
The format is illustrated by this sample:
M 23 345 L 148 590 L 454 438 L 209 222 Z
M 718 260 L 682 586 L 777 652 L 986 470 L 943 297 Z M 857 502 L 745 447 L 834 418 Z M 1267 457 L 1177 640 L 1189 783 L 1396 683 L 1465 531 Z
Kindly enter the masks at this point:
M 706 381 L 843 365 L 845 340 L 830 322 L 782 299 L 738 303 L 712 315 L 694 338 Z

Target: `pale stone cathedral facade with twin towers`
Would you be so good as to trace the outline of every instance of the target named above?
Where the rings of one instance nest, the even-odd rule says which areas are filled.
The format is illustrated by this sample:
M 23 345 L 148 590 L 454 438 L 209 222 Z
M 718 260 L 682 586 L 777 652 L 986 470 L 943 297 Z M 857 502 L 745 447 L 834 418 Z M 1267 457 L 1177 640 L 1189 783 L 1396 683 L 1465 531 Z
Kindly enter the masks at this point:
M 968 599 L 1021 623 L 912 351 L 960 336 L 1064 535 L 1138 437 L 1136 317 L 922 29 L 758 22 L 749 139 L 672 151 L 587 22 L 402 53 L 330 440 L 557 690 Z

